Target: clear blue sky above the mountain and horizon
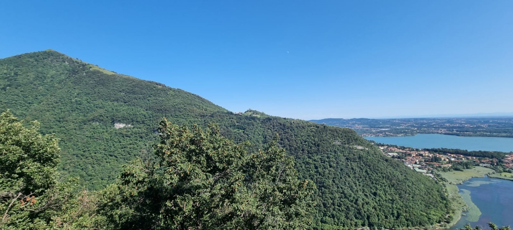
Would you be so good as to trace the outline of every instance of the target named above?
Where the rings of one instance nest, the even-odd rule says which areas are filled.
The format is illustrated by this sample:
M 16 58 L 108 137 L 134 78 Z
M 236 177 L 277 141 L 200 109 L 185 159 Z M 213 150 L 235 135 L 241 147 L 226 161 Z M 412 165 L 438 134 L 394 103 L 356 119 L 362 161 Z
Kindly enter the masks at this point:
M 0 57 L 53 49 L 231 111 L 513 112 L 513 1 L 4 1 Z

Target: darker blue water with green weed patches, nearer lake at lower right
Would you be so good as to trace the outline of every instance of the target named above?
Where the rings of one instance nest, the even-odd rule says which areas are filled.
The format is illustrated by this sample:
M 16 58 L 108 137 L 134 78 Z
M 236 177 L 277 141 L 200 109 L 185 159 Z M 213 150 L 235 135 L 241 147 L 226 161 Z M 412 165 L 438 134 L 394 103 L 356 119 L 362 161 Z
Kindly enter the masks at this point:
M 470 195 L 481 215 L 476 216 L 476 210 L 469 210 L 450 230 L 462 228 L 466 223 L 487 229 L 487 222 L 494 222 L 499 227 L 513 226 L 513 181 L 490 177 L 471 178 L 464 181 L 463 185 L 458 185 L 458 188 L 464 199 Z

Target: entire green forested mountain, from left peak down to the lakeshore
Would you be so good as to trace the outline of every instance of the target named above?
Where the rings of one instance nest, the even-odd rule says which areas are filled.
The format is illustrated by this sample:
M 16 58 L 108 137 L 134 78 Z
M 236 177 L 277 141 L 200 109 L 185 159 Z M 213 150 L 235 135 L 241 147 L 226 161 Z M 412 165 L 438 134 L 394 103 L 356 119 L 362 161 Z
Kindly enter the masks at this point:
M 179 77 L 179 76 L 177 76 Z M 102 189 L 121 165 L 147 154 L 162 118 L 178 125 L 207 123 L 236 143 L 262 148 L 279 134 L 300 177 L 317 186 L 314 228 L 406 227 L 445 221 L 448 200 L 432 179 L 384 157 L 347 128 L 243 114 L 163 84 L 104 70 L 56 51 L 0 60 L 0 110 L 37 120 L 62 148 L 61 175 Z

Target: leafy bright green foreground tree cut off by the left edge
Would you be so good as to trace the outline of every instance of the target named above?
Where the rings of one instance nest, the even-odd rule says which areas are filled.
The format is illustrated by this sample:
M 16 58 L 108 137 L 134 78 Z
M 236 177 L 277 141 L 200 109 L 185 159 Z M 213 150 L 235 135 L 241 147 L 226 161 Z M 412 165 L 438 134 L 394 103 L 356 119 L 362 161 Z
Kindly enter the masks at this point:
M 57 183 L 60 149 L 51 135 L 37 132 L 38 124 L 25 128 L 6 111 L 0 115 L 0 213 L 3 228 L 22 226 L 28 219 L 45 221 L 53 205 L 51 191 Z M 33 224 L 33 223 L 31 223 Z M 18 228 L 18 227 L 16 227 Z

